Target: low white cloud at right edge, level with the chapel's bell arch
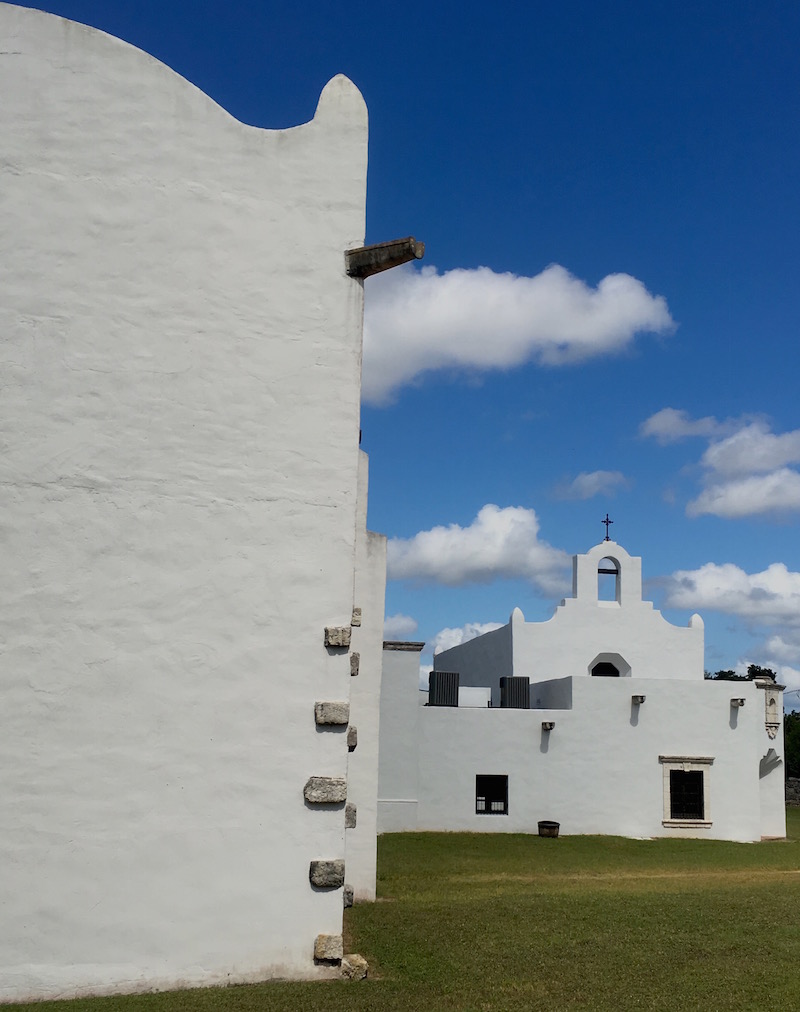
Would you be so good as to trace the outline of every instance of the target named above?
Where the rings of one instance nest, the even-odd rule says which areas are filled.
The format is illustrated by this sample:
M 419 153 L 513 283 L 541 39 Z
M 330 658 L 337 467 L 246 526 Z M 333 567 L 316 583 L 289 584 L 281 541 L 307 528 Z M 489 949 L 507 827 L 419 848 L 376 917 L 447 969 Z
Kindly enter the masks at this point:
M 800 573 L 783 563 L 761 573 L 745 573 L 732 563 L 706 563 L 679 570 L 665 586 L 669 607 L 722 611 L 770 625 L 800 623 Z

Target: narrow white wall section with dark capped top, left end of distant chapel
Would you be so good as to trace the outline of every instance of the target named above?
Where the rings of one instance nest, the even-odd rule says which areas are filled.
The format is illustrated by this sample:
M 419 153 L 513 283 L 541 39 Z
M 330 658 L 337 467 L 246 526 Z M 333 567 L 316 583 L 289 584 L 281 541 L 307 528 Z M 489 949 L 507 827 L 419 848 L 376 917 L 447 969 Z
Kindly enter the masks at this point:
M 386 643 L 380 690 L 378 832 L 417 829 L 420 653 L 423 643 Z

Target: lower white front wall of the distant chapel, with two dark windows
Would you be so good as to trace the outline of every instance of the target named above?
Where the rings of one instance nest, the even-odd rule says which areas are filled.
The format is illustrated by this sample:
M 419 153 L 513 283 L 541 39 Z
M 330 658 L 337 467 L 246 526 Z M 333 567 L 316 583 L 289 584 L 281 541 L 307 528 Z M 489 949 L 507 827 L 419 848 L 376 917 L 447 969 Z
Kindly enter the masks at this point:
M 785 834 L 781 791 L 769 816 L 777 832 L 763 824 L 759 761 L 767 747 L 752 683 L 572 681 L 569 710 L 422 709 L 419 762 L 428 775 L 418 780 L 418 828 L 535 833 L 539 820 L 554 820 L 562 834 L 739 841 Z M 632 694 L 645 701 L 633 704 Z M 732 696 L 745 705 L 733 709 Z M 553 730 L 544 731 L 543 721 Z M 782 740 L 771 744 L 782 754 Z M 659 756 L 713 758 L 708 828 L 662 824 Z M 475 814 L 476 774 L 509 777 L 507 816 Z M 782 786 L 780 772 L 770 775 Z

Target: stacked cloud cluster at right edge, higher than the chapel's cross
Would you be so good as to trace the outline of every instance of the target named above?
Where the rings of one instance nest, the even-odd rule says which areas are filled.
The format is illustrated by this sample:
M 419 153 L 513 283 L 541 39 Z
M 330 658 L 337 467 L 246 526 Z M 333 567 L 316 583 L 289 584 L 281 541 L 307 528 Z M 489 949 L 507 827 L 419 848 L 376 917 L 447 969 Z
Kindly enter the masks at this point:
M 650 416 L 640 433 L 660 443 L 689 435 L 707 436 L 700 457 L 702 490 L 687 504 L 689 516 L 785 514 L 800 510 L 800 429 L 775 433 L 763 418 L 751 415 L 717 421 L 692 419 L 686 412 L 664 408 Z

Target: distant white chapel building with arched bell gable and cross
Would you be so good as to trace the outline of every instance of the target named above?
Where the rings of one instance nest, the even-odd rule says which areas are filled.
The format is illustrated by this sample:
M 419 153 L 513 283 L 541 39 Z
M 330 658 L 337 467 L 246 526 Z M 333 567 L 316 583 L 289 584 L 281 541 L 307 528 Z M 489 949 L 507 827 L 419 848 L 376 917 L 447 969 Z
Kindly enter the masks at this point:
M 549 621 L 437 655 L 427 694 L 423 645 L 384 645 L 378 830 L 783 837 L 782 687 L 704 679 L 702 619 L 642 600 L 620 544 L 572 584 Z

